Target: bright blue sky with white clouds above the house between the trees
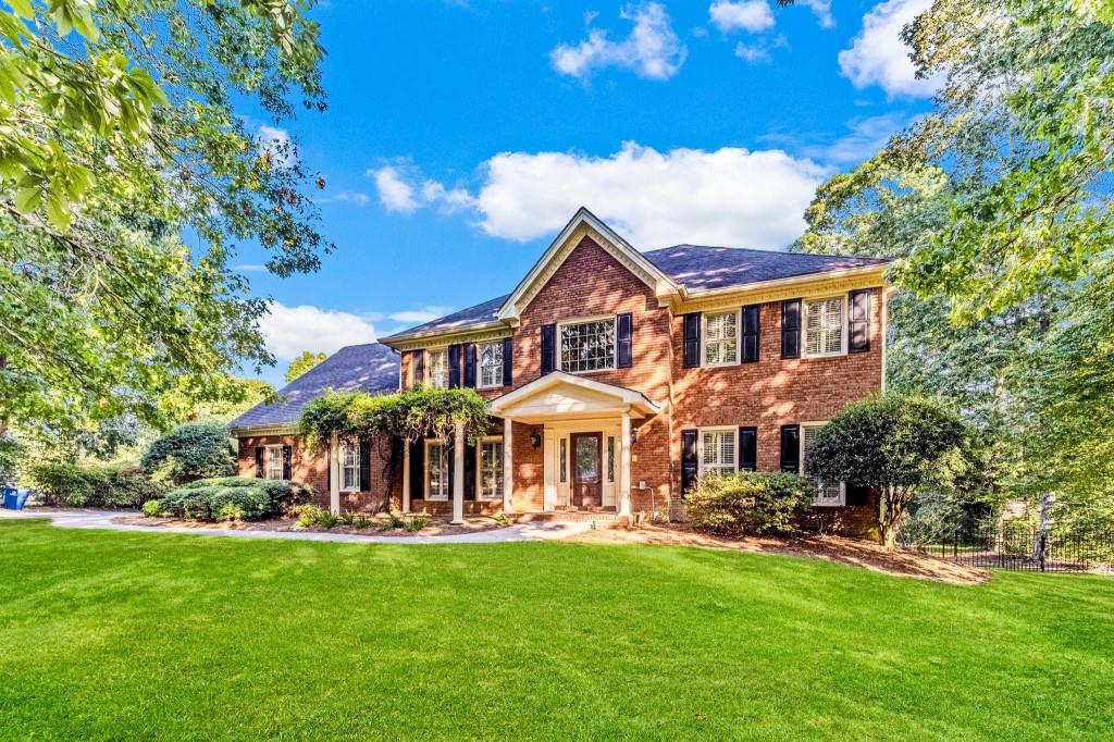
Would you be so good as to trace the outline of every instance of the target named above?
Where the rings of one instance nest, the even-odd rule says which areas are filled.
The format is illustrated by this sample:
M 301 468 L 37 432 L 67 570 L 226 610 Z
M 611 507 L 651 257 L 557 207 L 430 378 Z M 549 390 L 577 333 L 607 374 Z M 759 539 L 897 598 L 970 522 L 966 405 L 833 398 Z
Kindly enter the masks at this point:
M 330 0 L 329 110 L 274 124 L 320 172 L 336 251 L 237 262 L 280 383 L 335 351 L 506 293 L 580 204 L 635 247 L 782 248 L 815 186 L 929 104 L 901 26 L 928 0 Z

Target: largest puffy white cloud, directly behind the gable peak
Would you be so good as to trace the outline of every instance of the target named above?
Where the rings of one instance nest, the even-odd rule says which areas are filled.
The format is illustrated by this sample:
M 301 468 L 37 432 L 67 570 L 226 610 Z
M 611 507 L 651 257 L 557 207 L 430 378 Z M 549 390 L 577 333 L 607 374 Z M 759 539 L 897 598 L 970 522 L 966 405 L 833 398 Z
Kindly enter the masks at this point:
M 553 235 L 580 205 L 643 250 L 682 242 L 781 247 L 827 170 L 779 149 L 657 152 L 626 143 L 608 157 L 504 153 L 486 164 L 477 198 L 485 232 Z

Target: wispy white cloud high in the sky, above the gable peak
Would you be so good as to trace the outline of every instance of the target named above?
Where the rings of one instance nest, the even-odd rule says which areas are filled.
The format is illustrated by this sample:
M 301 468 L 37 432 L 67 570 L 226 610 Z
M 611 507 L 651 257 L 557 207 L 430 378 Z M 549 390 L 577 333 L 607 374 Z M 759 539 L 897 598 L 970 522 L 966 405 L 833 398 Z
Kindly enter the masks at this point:
M 561 75 L 587 79 L 602 67 L 622 67 L 652 80 L 667 80 L 681 69 L 687 50 L 677 39 L 665 7 L 657 2 L 623 9 L 620 17 L 634 22 L 631 36 L 612 41 L 607 31 L 589 29 L 588 38 L 575 47 L 560 45 L 550 55 Z M 595 16 L 587 14 L 590 25 Z

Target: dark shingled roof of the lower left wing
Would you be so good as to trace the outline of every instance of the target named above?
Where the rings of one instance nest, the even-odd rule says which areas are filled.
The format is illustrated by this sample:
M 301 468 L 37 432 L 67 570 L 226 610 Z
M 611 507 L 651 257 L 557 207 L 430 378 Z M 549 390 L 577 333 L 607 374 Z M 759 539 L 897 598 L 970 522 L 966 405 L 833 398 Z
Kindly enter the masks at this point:
M 388 394 L 399 389 L 399 357 L 387 345 L 342 348 L 278 391 L 285 401 L 260 403 L 228 423 L 255 428 L 297 422 L 302 408 L 326 389 Z

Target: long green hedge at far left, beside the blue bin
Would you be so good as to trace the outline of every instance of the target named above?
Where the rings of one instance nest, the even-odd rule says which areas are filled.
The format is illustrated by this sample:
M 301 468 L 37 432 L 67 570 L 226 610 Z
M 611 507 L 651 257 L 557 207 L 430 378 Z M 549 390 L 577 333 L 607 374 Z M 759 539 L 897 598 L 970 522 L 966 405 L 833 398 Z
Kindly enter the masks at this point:
M 48 505 L 72 508 L 137 508 L 163 491 L 136 467 L 43 461 L 28 477 Z

